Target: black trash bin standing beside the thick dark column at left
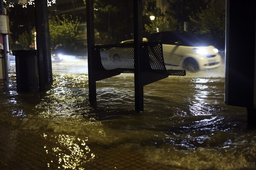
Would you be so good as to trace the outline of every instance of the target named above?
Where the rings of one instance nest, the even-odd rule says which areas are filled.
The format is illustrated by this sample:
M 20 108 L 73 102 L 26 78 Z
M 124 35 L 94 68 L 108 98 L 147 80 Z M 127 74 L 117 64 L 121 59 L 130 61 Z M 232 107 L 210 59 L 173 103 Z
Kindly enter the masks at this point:
M 36 50 L 16 50 L 12 53 L 15 55 L 17 91 L 39 91 Z

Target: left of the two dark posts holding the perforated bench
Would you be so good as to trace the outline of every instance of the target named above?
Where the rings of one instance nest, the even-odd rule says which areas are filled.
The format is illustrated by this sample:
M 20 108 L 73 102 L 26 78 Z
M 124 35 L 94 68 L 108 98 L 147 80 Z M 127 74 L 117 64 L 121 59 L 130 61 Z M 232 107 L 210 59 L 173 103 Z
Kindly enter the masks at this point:
M 93 51 L 94 51 L 94 8 L 93 0 L 86 0 L 87 17 L 87 56 L 88 56 L 88 81 L 89 81 L 89 101 L 96 102 L 96 79 Z

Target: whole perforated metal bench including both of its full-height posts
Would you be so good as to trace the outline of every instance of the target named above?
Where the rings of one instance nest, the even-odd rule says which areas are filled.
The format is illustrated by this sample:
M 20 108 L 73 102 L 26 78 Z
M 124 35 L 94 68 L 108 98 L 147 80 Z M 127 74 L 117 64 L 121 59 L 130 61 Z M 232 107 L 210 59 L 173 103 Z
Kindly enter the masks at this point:
M 89 101 L 96 102 L 96 82 L 121 73 L 134 73 L 134 103 L 143 111 L 143 87 L 185 70 L 167 70 L 161 42 L 142 42 L 142 0 L 133 1 L 134 44 L 95 45 L 93 0 L 86 0 Z

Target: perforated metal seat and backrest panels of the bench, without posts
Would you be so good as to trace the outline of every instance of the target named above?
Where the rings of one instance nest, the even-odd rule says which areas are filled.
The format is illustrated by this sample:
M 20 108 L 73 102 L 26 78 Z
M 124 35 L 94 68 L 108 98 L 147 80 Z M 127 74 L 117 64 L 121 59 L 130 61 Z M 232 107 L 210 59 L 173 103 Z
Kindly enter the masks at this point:
M 186 75 L 185 70 L 166 69 L 162 42 L 143 42 L 141 51 L 141 57 L 143 58 L 142 71 L 163 74 L 167 77 Z M 95 57 L 106 71 L 134 73 L 133 43 L 95 45 Z

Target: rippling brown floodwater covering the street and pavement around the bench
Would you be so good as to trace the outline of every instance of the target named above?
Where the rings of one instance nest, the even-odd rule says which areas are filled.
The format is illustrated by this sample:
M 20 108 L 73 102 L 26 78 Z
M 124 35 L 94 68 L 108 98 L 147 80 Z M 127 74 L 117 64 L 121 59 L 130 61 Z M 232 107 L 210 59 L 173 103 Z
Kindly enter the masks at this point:
M 133 74 L 97 82 L 97 103 L 90 105 L 86 59 L 53 62 L 54 82 L 46 93 L 18 94 L 13 65 L 10 90 L 1 92 L 0 123 L 11 121 L 58 141 L 44 146 L 48 155 L 56 153 L 48 167 L 86 170 L 89 162 L 97 164 L 100 152 L 109 159 L 129 150 L 170 170 L 256 169 L 256 130 L 247 128 L 245 108 L 224 104 L 224 65 L 146 85 L 140 113 L 134 111 Z M 110 152 L 106 146 L 118 149 Z M 72 148 L 70 153 L 58 149 L 64 147 Z M 84 147 L 81 156 L 74 156 L 79 147 Z M 140 163 L 121 167 L 105 169 L 154 169 Z

